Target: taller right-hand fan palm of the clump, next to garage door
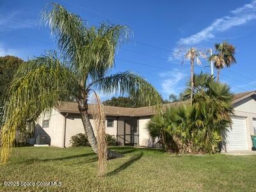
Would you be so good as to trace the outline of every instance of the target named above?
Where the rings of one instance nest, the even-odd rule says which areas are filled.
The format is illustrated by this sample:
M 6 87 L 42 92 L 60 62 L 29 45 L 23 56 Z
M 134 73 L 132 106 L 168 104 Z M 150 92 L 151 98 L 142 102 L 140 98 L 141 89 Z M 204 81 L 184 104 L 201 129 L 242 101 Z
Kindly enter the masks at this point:
M 189 97 L 190 88 L 184 93 Z M 227 84 L 218 83 L 213 76 L 200 74 L 195 76 L 195 92 L 191 122 L 196 127 L 198 143 L 206 152 L 215 152 L 221 141 L 221 134 L 231 124 L 230 115 L 233 113 L 232 93 Z M 191 123 L 189 123 L 191 124 Z M 188 124 L 188 125 L 189 125 Z

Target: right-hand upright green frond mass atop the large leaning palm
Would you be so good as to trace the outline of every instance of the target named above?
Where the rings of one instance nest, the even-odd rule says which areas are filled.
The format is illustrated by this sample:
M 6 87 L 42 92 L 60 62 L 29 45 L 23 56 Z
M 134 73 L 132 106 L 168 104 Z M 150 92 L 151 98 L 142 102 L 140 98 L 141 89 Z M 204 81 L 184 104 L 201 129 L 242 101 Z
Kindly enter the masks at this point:
M 79 51 L 79 71 L 88 74 L 92 81 L 96 81 L 106 75 L 109 68 L 114 65 L 116 49 L 131 35 L 131 29 L 127 26 L 109 25 L 88 30 L 86 45 Z

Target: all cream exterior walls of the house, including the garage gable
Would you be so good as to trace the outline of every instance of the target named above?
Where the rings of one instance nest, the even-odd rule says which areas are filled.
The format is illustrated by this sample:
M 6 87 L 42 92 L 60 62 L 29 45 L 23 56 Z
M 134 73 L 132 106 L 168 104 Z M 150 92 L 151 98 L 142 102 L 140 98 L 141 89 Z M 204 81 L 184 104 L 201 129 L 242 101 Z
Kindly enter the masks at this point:
M 253 118 L 256 118 L 256 101 L 253 97 L 249 97 L 248 99 L 241 100 L 234 104 L 234 115 L 235 116 L 243 116 L 246 118 L 246 132 L 247 132 L 247 143 L 248 149 L 252 148 L 252 140 L 251 134 L 253 132 Z M 51 138 L 51 145 L 56 147 L 70 147 L 70 138 L 77 133 L 84 133 L 83 123 L 81 121 L 81 116 L 79 114 L 69 114 L 66 120 L 66 134 L 65 132 L 65 117 L 66 114 L 60 114 L 55 109 L 52 109 L 51 114 L 42 114 L 38 117 L 37 120 L 37 128 L 35 131 L 35 136 L 37 134 L 47 134 L 49 138 Z M 49 127 L 42 128 L 42 122 L 44 119 L 49 118 Z M 138 128 L 139 128 L 139 145 L 145 147 L 153 147 L 154 143 L 152 143 L 152 139 L 150 138 L 147 131 L 147 124 L 150 121 L 152 116 L 143 116 L 138 120 Z M 117 117 L 116 116 L 107 116 L 107 119 L 114 120 L 113 127 L 106 127 L 106 133 L 116 136 L 117 130 Z M 124 119 L 124 117 L 119 117 L 119 120 Z M 90 119 L 93 129 L 94 122 Z M 118 128 L 124 129 L 124 123 L 118 125 Z M 118 134 L 121 134 L 121 130 L 118 131 Z M 65 141 L 64 141 L 65 138 Z

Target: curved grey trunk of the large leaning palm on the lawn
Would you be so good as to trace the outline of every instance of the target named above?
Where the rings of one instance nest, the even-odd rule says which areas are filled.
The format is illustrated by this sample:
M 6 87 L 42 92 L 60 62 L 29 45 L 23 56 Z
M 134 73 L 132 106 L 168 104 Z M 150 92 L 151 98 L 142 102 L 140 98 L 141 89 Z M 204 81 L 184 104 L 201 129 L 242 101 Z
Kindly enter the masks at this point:
M 87 100 L 85 102 L 79 101 L 79 111 L 82 116 L 84 132 L 87 136 L 87 139 L 88 139 L 90 145 L 92 146 L 93 152 L 95 152 L 95 154 L 98 154 L 98 143 L 97 143 L 95 134 L 93 132 L 92 124 L 90 122 L 90 118 L 89 118 L 89 114 L 88 114 Z M 115 159 L 115 158 L 123 157 L 122 154 L 118 154 L 118 153 L 113 152 L 108 149 L 107 149 L 107 156 L 108 156 L 108 159 Z

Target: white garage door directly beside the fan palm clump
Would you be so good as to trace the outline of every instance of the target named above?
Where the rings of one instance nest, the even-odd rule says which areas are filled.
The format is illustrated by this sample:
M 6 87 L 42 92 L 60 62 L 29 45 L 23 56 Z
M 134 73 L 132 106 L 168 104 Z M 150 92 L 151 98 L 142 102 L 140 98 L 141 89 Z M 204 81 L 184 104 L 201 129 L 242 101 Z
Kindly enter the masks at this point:
M 245 118 L 232 118 L 232 129 L 228 129 L 226 147 L 230 150 L 247 150 L 247 134 Z

